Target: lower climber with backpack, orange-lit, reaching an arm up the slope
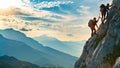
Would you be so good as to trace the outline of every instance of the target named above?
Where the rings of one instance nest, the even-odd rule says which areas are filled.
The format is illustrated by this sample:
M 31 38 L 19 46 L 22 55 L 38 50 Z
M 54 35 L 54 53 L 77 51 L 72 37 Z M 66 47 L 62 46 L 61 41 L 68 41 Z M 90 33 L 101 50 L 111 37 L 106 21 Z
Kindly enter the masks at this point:
M 96 34 L 96 29 L 95 26 L 98 28 L 97 22 L 99 21 L 100 16 L 98 17 L 98 20 L 96 20 L 96 17 L 93 18 L 93 20 L 89 20 L 88 22 L 88 26 L 91 29 L 91 36 L 93 36 L 94 34 Z

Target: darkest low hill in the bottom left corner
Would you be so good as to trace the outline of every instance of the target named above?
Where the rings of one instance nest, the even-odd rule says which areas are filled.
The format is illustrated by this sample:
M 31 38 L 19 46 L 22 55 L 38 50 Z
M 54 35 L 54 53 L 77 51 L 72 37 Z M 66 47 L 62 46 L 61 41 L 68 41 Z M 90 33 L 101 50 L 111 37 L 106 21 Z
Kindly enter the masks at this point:
M 0 56 L 0 68 L 40 68 L 39 66 L 18 60 L 11 56 Z

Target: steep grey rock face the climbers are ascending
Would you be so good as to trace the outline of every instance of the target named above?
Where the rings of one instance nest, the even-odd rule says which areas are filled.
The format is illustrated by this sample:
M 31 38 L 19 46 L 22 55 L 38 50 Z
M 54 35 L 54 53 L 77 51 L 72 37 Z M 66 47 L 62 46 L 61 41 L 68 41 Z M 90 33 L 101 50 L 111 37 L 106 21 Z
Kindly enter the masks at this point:
M 120 68 L 120 0 L 113 4 L 105 23 L 86 42 L 75 68 Z

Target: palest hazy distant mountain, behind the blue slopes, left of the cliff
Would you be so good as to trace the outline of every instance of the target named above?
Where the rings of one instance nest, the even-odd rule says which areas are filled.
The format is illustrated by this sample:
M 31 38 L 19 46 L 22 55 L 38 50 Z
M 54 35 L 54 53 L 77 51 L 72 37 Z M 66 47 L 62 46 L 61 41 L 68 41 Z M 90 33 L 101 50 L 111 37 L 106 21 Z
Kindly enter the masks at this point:
M 56 38 L 49 37 L 47 35 L 42 35 L 40 37 L 34 38 L 39 43 L 45 46 L 51 47 L 53 49 L 59 50 L 61 52 L 79 57 L 81 55 L 83 44 L 85 41 L 60 41 Z

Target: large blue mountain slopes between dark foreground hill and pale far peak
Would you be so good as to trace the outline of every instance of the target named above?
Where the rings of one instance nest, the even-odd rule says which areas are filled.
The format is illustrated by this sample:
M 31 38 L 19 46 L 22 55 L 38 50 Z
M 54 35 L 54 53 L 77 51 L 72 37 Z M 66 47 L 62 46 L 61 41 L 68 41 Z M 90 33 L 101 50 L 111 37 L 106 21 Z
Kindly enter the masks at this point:
M 0 52 L 3 55 L 37 64 L 73 68 L 76 57 L 43 46 L 25 34 L 13 30 L 0 30 Z

